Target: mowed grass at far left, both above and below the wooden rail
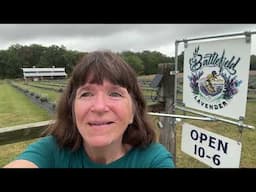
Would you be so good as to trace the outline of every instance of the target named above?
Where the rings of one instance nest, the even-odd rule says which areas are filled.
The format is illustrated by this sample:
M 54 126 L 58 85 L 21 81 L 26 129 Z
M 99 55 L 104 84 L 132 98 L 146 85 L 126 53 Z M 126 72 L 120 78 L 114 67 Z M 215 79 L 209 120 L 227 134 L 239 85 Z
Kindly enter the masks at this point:
M 47 111 L 32 103 L 6 81 L 0 81 L 0 129 L 25 123 L 49 120 Z M 0 145 L 0 167 L 14 160 L 28 144 L 37 139 Z

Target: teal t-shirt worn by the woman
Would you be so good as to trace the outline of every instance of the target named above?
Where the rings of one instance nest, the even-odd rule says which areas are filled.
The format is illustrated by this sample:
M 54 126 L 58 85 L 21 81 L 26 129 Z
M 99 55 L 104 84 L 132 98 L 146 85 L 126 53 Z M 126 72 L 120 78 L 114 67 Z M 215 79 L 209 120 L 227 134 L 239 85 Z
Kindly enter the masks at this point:
M 59 148 L 53 136 L 39 139 L 17 159 L 33 162 L 39 168 L 173 168 L 172 155 L 160 143 L 146 148 L 132 148 L 120 159 L 109 164 L 95 163 L 81 146 L 77 151 Z

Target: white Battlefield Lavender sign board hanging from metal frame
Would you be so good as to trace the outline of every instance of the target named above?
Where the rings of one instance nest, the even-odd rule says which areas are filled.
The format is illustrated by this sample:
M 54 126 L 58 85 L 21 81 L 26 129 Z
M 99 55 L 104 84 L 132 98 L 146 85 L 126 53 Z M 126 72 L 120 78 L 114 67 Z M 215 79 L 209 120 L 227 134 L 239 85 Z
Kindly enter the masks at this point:
M 232 38 L 188 43 L 183 103 L 233 119 L 245 117 L 251 43 Z

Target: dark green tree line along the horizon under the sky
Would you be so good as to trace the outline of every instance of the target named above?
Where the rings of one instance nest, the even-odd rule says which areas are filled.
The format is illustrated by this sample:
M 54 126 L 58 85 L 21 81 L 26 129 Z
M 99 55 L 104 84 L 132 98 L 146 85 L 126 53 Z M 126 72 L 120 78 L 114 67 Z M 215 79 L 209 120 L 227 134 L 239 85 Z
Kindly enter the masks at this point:
M 69 75 L 73 67 L 87 52 L 67 50 L 65 46 L 39 44 L 23 46 L 11 45 L 7 50 L 0 50 L 0 78 L 22 78 L 21 68 L 26 67 L 65 67 Z M 157 51 L 118 53 L 129 63 L 138 75 L 150 75 L 158 72 L 159 63 L 174 63 L 174 57 L 168 57 Z M 178 71 L 183 72 L 184 52 L 178 56 Z M 256 70 L 256 56 L 252 55 L 250 69 Z

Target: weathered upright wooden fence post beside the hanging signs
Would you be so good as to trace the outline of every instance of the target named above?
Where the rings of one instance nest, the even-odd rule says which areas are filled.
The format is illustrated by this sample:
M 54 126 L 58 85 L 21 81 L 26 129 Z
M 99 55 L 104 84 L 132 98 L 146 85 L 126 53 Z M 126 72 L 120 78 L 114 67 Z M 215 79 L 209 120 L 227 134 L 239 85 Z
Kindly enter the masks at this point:
M 174 92 L 175 92 L 175 76 L 170 75 L 170 71 L 174 71 L 175 65 L 171 63 L 161 63 L 158 65 L 159 73 L 163 74 L 161 82 L 160 101 L 164 102 L 164 113 L 173 114 L 175 112 Z M 175 118 L 162 118 L 163 127 L 160 128 L 159 142 L 163 144 L 173 155 L 174 163 L 176 163 L 176 132 Z

